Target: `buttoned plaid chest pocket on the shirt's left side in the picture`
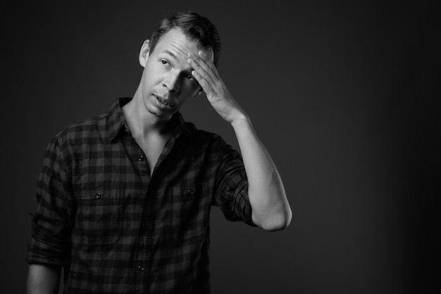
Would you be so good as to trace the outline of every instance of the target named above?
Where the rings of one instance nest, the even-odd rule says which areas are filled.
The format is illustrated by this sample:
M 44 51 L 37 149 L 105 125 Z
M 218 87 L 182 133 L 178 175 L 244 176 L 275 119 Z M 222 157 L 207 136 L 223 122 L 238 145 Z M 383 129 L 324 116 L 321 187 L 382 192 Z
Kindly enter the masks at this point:
M 116 243 L 123 229 L 123 192 L 81 191 L 77 194 L 74 234 L 94 245 Z

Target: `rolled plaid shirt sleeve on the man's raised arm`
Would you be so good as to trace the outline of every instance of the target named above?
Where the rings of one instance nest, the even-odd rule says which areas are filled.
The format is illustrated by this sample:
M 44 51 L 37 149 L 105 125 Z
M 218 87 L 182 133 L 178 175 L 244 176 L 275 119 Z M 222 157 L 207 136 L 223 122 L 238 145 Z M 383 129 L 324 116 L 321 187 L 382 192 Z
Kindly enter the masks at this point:
M 251 218 L 248 180 L 242 156 L 225 142 L 223 142 L 222 150 L 222 163 L 216 179 L 214 205 L 221 208 L 226 219 L 256 226 Z

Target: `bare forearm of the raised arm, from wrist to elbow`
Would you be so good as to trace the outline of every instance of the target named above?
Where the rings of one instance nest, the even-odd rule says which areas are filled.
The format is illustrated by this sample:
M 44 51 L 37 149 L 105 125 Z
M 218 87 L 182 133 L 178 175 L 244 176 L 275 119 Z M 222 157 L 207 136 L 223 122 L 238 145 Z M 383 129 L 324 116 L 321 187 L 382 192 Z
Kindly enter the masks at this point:
M 284 229 L 291 222 L 292 211 L 271 156 L 254 132 L 247 115 L 238 117 L 232 122 L 232 127 L 247 172 L 254 224 L 268 231 Z

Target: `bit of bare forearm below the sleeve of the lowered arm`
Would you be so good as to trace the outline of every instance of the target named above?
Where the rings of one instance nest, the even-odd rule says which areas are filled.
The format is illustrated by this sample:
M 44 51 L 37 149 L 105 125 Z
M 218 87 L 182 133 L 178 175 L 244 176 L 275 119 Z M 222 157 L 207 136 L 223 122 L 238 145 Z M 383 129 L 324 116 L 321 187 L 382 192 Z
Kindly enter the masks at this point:
M 30 264 L 27 274 L 27 294 L 56 294 L 60 284 L 61 267 Z

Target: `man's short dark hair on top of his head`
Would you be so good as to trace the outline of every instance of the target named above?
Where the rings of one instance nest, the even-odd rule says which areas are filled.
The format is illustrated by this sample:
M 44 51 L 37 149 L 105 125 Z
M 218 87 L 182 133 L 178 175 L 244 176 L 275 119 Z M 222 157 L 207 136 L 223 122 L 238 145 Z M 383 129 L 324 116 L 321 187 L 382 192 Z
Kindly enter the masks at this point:
M 151 34 L 150 52 L 154 51 L 163 34 L 177 27 L 188 38 L 199 42 L 204 49 L 213 50 L 213 63 L 217 68 L 221 58 L 221 39 L 218 30 L 208 18 L 194 11 L 176 12 L 161 20 L 156 31 Z

